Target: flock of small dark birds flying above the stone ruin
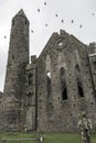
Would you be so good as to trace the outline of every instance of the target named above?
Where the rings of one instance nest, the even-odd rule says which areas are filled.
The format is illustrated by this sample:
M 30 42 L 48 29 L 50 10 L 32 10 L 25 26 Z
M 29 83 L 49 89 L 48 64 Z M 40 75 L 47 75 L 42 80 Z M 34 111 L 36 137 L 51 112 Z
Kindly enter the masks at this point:
M 46 6 L 47 6 L 47 3 L 46 3 L 46 2 L 44 2 L 44 6 L 46 7 Z M 38 12 L 41 12 L 41 9 L 38 9 Z M 92 15 L 95 15 L 95 13 L 92 13 Z M 57 16 L 58 16 L 58 14 L 56 13 L 56 14 L 55 14 L 55 16 L 57 18 Z M 64 20 L 62 19 L 62 20 L 61 20 L 61 22 L 62 22 L 62 23 L 64 23 Z M 74 24 L 74 22 L 75 22 L 74 20 L 71 20 L 71 23 L 72 23 L 72 24 Z M 49 26 L 49 24 L 47 24 L 47 23 L 45 23 L 45 26 Z M 82 28 L 83 28 L 83 25 L 82 25 L 82 24 L 79 24 L 79 29 L 82 29 Z M 34 31 L 33 31 L 33 30 L 31 30 L 31 33 L 34 33 Z M 7 38 L 7 36 L 6 36 L 6 35 L 4 35 L 4 38 Z

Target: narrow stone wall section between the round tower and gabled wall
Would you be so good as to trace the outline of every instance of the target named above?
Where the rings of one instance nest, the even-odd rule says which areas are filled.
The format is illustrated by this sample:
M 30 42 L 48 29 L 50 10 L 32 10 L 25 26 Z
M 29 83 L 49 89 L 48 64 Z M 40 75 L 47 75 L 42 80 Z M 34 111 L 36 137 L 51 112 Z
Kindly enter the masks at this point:
M 36 130 L 36 57 L 26 66 L 26 130 Z

